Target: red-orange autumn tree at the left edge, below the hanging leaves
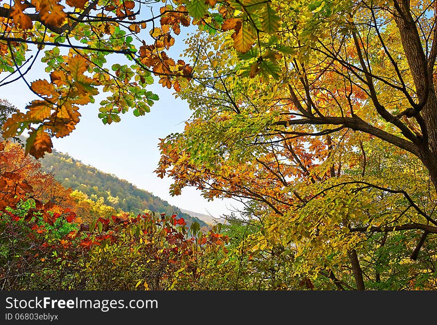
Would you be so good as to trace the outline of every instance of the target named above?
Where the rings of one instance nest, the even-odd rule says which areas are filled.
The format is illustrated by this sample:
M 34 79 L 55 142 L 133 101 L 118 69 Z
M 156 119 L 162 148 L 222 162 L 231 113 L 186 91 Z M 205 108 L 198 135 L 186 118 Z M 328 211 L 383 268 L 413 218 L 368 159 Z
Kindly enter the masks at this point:
M 21 145 L 0 142 L 0 287 L 38 288 L 52 279 L 44 263 L 47 241 L 59 242 L 72 225 L 71 189 L 65 189 Z M 80 218 L 77 218 L 79 221 Z M 38 282 L 38 283 L 37 283 Z

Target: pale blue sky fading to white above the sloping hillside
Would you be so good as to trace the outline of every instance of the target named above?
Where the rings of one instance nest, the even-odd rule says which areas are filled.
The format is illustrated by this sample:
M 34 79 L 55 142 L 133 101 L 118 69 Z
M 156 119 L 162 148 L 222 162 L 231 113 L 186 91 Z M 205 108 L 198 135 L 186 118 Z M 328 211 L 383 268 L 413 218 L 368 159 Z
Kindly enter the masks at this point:
M 35 65 L 26 75 L 27 80 L 49 79 L 43 69 L 41 63 Z M 0 74 L 0 77 L 3 76 Z M 158 138 L 182 131 L 183 122 L 191 113 L 186 102 L 174 98 L 172 90 L 162 88 L 158 83 L 151 85 L 149 90 L 159 95 L 159 101 L 151 107 L 150 113 L 135 117 L 128 112 L 121 115 L 121 122 L 111 125 L 103 125 L 97 117 L 98 103 L 103 98 L 99 95 L 96 104 L 80 108 L 82 116 L 72 134 L 62 139 L 52 139 L 54 148 L 85 164 L 126 179 L 182 209 L 220 217 L 230 214 L 228 209 L 241 207 L 241 203 L 235 200 L 207 201 L 200 191 L 191 187 L 183 189 L 179 196 L 170 196 L 171 179 L 160 179 L 153 172 L 159 161 Z M 19 80 L 0 87 L 0 98 L 7 99 L 23 111 L 36 96 Z

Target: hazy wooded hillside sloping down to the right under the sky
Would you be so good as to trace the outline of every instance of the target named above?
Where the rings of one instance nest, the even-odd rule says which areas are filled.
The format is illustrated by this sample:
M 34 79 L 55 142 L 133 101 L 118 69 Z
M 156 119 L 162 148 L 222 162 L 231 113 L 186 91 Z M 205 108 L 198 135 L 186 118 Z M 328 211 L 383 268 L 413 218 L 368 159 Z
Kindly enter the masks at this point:
M 52 154 L 46 154 L 39 161 L 43 169 L 53 173 L 64 187 L 79 190 L 90 198 L 103 197 L 105 204 L 115 209 L 135 214 L 143 213 L 145 210 L 165 213 L 166 215 L 176 214 L 178 217 L 183 217 L 188 225 L 197 221 L 201 227 L 210 228 L 201 218 L 184 213 L 179 208 L 171 206 L 167 201 L 128 181 L 85 165 L 68 154 L 53 150 Z

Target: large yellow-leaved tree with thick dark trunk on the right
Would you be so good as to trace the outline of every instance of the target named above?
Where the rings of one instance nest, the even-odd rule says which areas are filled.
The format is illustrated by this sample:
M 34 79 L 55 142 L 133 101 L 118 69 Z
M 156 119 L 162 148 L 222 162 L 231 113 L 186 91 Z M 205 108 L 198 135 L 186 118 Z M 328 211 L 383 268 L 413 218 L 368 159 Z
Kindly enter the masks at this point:
M 252 254 L 294 249 L 296 276 L 435 288 L 436 1 L 231 5 L 230 32 L 188 41 L 193 115 L 157 173 L 258 202 Z

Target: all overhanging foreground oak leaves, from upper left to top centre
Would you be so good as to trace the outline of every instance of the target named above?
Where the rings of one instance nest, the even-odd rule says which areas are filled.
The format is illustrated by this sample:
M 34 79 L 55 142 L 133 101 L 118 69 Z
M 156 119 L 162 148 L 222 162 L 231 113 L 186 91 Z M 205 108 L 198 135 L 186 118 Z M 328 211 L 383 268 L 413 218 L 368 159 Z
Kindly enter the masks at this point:
M 186 82 L 182 79 L 186 78 L 189 81 L 193 77 L 190 62 L 176 61 L 165 52 L 175 44 L 173 36 L 179 35 L 181 27 L 187 27 L 191 22 L 197 24 L 201 30 L 207 30 L 211 35 L 220 28 L 229 30 L 234 40 L 234 47 L 240 53 L 250 51 L 255 47 L 256 41 L 261 45 L 260 34 L 279 31 L 276 4 L 274 8 L 273 4 L 265 1 L 244 1 L 242 5 L 232 1 L 230 6 L 217 5 L 215 0 L 180 1 L 178 6 L 166 4 L 160 8 L 161 15 L 158 18 L 160 25 L 153 24 L 149 31 L 154 38 L 154 44 L 147 45 L 141 39 L 139 44 L 135 44 L 137 40 L 134 40 L 130 34 L 140 35 L 146 28 L 146 21 L 138 21 L 135 16 L 137 9 L 135 1 L 116 0 L 105 4 L 101 10 L 98 9 L 98 4 L 93 8 L 87 7 L 87 4 L 91 4 L 84 0 L 68 0 L 66 3 L 58 0 L 32 0 L 31 3 L 35 6 L 40 22 L 35 25 L 37 27 L 35 31 L 28 35 L 23 34 L 24 38 L 45 37 L 43 41 L 73 46 L 71 40 L 68 40 L 68 35 L 74 35 L 74 39 L 89 50 L 74 54 L 71 52 L 73 59 L 69 58 L 70 67 L 64 64 L 66 57 L 61 55 L 58 47 L 45 50 L 42 60 L 47 63 L 46 71 L 50 73 L 51 82 L 44 81 L 42 78 L 32 84 L 32 90 L 43 98 L 32 102 L 28 107 L 31 111 L 28 113 L 14 116 L 6 129 L 8 135 L 22 132 L 23 129 L 30 127 L 36 130 L 38 123 L 44 125 L 44 130 L 49 136 L 63 137 L 69 134 L 80 116 L 76 105 L 93 103 L 96 85 L 103 86 L 104 92 L 111 93 L 101 102 L 99 109 L 99 117 L 104 123 L 119 121 L 120 113 L 125 113 L 131 108 L 134 109 L 135 115 L 145 114 L 153 101 L 147 96 L 145 99 L 142 98 L 147 93 L 146 85 L 152 81 L 151 75 L 147 73 L 152 72 L 158 76 L 158 82 L 162 87 L 173 88 L 177 92 L 181 91 L 181 85 Z M 67 17 L 65 5 L 75 8 L 76 18 Z M 216 8 L 218 11 L 215 11 Z M 14 19 L 12 28 L 32 27 L 34 16 L 30 16 L 26 9 L 26 4 L 16 1 L 11 10 Z M 242 10 L 235 11 L 235 15 L 231 16 L 233 9 Z M 80 16 L 83 10 L 87 12 L 98 10 L 93 12 L 96 19 L 76 21 L 77 18 L 80 20 L 83 17 Z M 120 25 L 113 20 L 114 15 L 120 21 L 125 20 L 129 24 Z M 50 38 L 43 32 L 46 27 L 51 31 Z M 72 28 L 74 31 L 71 30 Z M 5 53 L 9 51 L 7 45 L 2 46 L 3 50 L 6 51 Z M 115 72 L 113 74 L 105 66 L 106 55 L 109 54 L 105 50 L 126 51 L 125 56 L 133 61 L 133 64 L 120 64 L 120 67 L 112 69 Z M 263 51 L 263 49 L 259 50 Z M 15 64 L 20 65 L 24 62 L 23 54 L 24 52 L 17 51 L 14 53 L 13 60 L 6 58 L 7 64 L 0 64 L 0 68 L 12 72 Z M 268 78 L 269 75 L 276 77 L 278 68 L 275 64 L 270 56 L 264 56 L 262 64 L 257 67 L 251 66 L 250 75 L 255 77 L 257 74 L 263 74 L 264 78 Z M 149 71 L 145 73 L 145 69 Z M 85 75 L 87 72 L 92 75 Z M 20 118 L 25 120 L 19 121 Z

